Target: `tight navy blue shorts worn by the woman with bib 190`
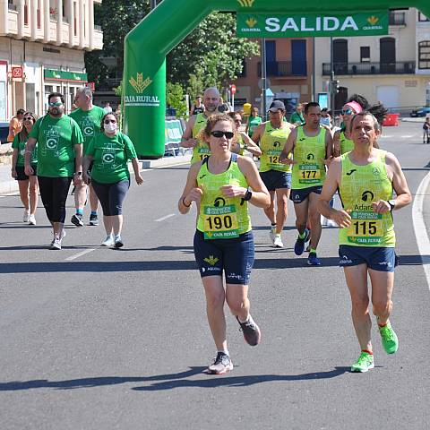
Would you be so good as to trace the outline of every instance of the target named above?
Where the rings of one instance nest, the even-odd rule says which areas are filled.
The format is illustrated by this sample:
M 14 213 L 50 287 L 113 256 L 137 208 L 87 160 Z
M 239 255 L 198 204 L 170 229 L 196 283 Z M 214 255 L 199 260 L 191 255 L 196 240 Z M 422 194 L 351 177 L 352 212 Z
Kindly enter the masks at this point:
M 231 239 L 204 239 L 199 230 L 194 235 L 194 257 L 200 275 L 222 276 L 228 284 L 247 285 L 254 265 L 254 235 L 248 231 Z

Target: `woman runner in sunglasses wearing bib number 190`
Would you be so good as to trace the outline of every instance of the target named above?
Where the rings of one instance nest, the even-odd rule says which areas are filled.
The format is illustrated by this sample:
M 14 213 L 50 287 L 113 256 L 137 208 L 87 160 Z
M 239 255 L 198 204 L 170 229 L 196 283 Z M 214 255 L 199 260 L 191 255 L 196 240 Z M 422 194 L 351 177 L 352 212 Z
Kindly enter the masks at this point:
M 245 341 L 255 346 L 261 340 L 260 329 L 249 314 L 248 284 L 254 264 L 254 236 L 248 202 L 264 208 L 269 206 L 270 196 L 254 161 L 231 152 L 237 133 L 229 116 L 211 116 L 201 135 L 211 148 L 211 156 L 191 166 L 178 208 L 185 214 L 193 202 L 197 205 L 194 255 L 218 350 L 208 372 L 225 374 L 233 369 L 226 340 L 225 301 L 236 316 Z

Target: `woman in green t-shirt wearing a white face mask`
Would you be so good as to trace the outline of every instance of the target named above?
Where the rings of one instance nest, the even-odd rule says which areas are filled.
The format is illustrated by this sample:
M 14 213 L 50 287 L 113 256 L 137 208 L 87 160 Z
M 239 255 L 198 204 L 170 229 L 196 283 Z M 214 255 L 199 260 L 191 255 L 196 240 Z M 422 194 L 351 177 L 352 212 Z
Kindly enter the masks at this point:
M 83 180 L 91 182 L 103 209 L 103 223 L 106 239 L 102 246 L 121 248 L 123 228 L 123 202 L 130 187 L 128 160 L 132 160 L 134 177 L 137 185 L 143 182 L 139 173 L 139 163 L 133 142 L 128 136 L 118 131 L 116 114 L 110 112 L 101 120 L 103 133 L 96 134 L 89 142 L 83 159 Z M 91 161 L 91 177 L 88 175 Z

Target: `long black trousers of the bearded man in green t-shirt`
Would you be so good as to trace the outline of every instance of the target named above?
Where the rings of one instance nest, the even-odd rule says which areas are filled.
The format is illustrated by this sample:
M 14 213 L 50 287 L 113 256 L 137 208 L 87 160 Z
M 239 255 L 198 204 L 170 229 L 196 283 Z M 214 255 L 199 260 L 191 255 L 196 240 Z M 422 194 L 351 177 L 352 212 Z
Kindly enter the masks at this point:
M 65 201 L 69 192 L 72 176 L 47 177 L 38 176 L 40 197 L 42 198 L 47 219 L 51 222 L 62 222 L 65 219 Z

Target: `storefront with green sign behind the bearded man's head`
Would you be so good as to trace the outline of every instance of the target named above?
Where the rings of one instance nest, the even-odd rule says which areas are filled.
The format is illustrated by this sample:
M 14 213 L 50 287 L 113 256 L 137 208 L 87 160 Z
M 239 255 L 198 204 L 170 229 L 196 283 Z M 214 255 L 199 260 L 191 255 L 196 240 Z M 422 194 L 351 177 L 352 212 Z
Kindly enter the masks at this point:
M 87 73 L 66 72 L 63 70 L 45 69 L 43 72 L 44 85 L 44 105 L 47 109 L 47 97 L 51 92 L 64 94 L 65 111 L 71 111 L 76 90 L 88 83 Z

